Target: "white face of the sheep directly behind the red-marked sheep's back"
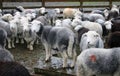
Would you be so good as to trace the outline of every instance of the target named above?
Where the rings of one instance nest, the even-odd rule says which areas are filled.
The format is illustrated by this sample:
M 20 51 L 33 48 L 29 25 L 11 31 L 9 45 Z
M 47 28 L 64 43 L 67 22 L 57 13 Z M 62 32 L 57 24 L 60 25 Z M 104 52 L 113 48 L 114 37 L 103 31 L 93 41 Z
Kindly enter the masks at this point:
M 97 47 L 100 35 L 95 31 L 88 31 L 82 35 L 82 40 L 88 48 Z

